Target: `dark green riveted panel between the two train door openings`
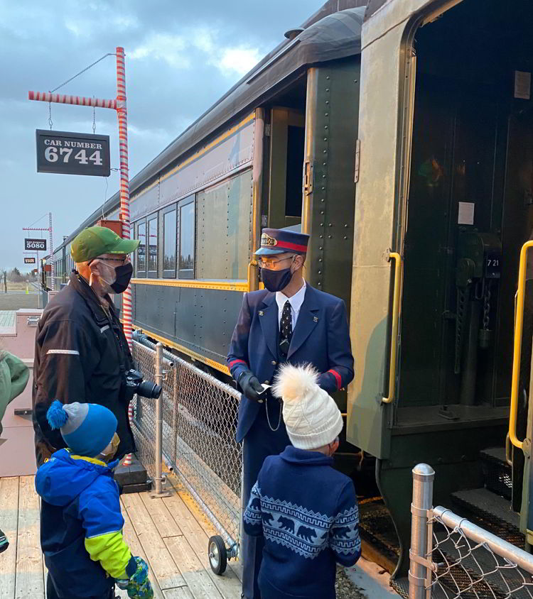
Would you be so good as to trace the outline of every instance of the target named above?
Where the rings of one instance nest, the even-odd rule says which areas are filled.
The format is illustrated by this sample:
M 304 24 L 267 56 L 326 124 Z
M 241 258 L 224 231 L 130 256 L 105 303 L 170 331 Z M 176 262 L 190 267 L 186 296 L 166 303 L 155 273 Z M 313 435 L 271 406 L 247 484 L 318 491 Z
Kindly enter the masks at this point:
M 308 73 L 303 231 L 311 235 L 306 279 L 344 299 L 350 309 L 355 145 L 360 57 L 316 67 Z

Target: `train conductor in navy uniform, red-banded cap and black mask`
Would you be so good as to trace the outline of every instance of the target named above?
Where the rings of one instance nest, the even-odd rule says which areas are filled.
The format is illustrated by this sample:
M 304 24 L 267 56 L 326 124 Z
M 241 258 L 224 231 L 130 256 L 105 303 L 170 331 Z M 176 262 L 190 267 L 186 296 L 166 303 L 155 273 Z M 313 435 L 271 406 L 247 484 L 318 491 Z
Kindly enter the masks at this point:
M 279 366 L 310 363 L 321 373 L 318 384 L 331 393 L 353 378 L 353 357 L 342 299 L 311 287 L 303 279 L 309 236 L 288 229 L 263 229 L 259 258 L 264 290 L 245 293 L 227 365 L 242 390 L 237 442 L 243 442 L 243 505 L 267 456 L 291 444 L 281 403 L 268 387 Z M 243 532 L 242 597 L 260 599 L 257 576 L 262 537 Z

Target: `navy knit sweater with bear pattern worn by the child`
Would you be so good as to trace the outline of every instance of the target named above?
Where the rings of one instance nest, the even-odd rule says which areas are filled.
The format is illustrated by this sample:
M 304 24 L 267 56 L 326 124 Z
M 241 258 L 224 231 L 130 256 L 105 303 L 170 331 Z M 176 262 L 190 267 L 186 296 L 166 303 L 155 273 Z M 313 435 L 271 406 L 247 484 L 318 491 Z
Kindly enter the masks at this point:
M 355 488 L 333 458 L 288 446 L 269 456 L 244 512 L 244 530 L 264 535 L 262 599 L 335 599 L 335 562 L 361 554 Z

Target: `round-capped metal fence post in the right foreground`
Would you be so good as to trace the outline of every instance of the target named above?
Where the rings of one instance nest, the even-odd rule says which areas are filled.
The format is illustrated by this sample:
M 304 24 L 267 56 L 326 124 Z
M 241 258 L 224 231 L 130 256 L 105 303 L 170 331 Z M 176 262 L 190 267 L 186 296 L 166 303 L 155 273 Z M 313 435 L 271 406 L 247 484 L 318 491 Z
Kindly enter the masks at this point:
M 413 468 L 413 502 L 411 503 L 411 549 L 409 551 L 409 599 L 430 599 L 431 588 L 426 589 L 429 568 L 426 556 L 431 551 L 432 539 L 428 534 L 428 510 L 433 507 L 435 471 L 428 464 Z M 431 559 L 431 556 L 430 556 Z

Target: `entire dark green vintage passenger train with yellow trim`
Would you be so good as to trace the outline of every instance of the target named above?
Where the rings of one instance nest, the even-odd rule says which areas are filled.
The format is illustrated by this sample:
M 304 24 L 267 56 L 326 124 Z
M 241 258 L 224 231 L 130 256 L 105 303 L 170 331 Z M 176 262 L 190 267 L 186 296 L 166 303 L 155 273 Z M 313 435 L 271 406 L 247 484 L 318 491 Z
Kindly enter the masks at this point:
M 527 0 L 360 4 L 330 0 L 287 32 L 131 181 L 133 322 L 225 378 L 260 229 L 311 233 L 306 279 L 350 310 L 355 379 L 336 400 L 375 461 L 400 576 L 415 463 L 434 466 L 449 505 L 488 486 L 492 456 L 527 520 L 530 442 L 504 446 L 533 228 L 533 13 Z M 522 386 L 524 439 L 529 375 Z

